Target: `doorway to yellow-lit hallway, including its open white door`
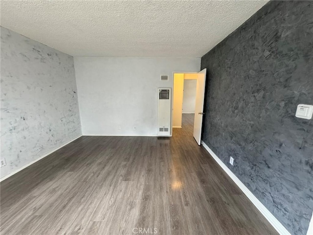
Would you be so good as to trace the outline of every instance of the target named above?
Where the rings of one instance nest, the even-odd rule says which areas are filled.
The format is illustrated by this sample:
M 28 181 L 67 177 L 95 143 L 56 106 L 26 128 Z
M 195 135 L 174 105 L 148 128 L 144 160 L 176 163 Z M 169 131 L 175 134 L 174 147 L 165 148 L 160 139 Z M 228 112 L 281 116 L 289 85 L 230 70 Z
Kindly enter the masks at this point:
M 193 129 L 193 137 L 201 144 L 206 69 L 198 73 L 174 73 L 172 127 Z M 193 123 L 192 123 L 193 120 Z

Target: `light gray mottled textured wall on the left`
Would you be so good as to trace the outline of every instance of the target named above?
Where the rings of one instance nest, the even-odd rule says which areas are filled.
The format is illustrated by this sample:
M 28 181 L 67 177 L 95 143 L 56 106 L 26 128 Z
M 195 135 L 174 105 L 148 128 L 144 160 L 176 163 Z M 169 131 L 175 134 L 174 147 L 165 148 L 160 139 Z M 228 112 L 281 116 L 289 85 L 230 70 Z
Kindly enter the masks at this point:
M 81 135 L 73 57 L 1 27 L 1 178 Z

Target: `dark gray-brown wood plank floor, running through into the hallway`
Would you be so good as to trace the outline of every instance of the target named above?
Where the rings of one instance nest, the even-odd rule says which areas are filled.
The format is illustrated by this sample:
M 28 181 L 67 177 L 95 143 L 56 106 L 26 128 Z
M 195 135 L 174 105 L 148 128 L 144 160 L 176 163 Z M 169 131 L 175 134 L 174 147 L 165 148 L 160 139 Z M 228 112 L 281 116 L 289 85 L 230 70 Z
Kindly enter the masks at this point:
M 270 235 L 192 137 L 81 137 L 1 182 L 1 235 Z M 137 228 L 137 229 L 135 229 Z

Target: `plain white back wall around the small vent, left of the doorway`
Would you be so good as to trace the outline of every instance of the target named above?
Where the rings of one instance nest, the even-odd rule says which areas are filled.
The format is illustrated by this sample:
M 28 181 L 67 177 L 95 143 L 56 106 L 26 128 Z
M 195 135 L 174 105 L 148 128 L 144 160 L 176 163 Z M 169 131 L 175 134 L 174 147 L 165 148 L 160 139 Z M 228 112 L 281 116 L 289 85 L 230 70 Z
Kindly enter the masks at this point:
M 157 88 L 201 58 L 74 57 L 83 135 L 155 136 Z M 160 81 L 168 74 L 169 80 Z M 134 130 L 136 126 L 136 130 Z

